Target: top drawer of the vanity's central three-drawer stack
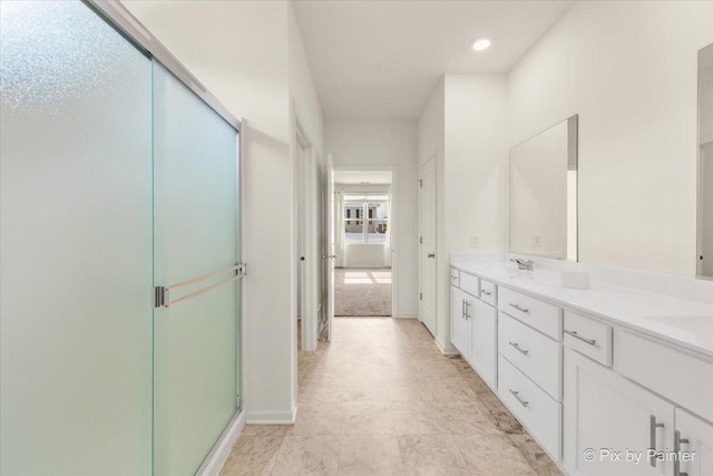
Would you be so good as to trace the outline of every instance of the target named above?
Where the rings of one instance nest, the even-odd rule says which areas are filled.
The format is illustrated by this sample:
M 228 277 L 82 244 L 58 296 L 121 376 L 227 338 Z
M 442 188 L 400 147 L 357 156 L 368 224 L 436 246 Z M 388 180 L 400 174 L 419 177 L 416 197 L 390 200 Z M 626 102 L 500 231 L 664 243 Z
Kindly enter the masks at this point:
M 556 305 L 498 286 L 498 309 L 553 339 L 561 339 L 561 309 Z

